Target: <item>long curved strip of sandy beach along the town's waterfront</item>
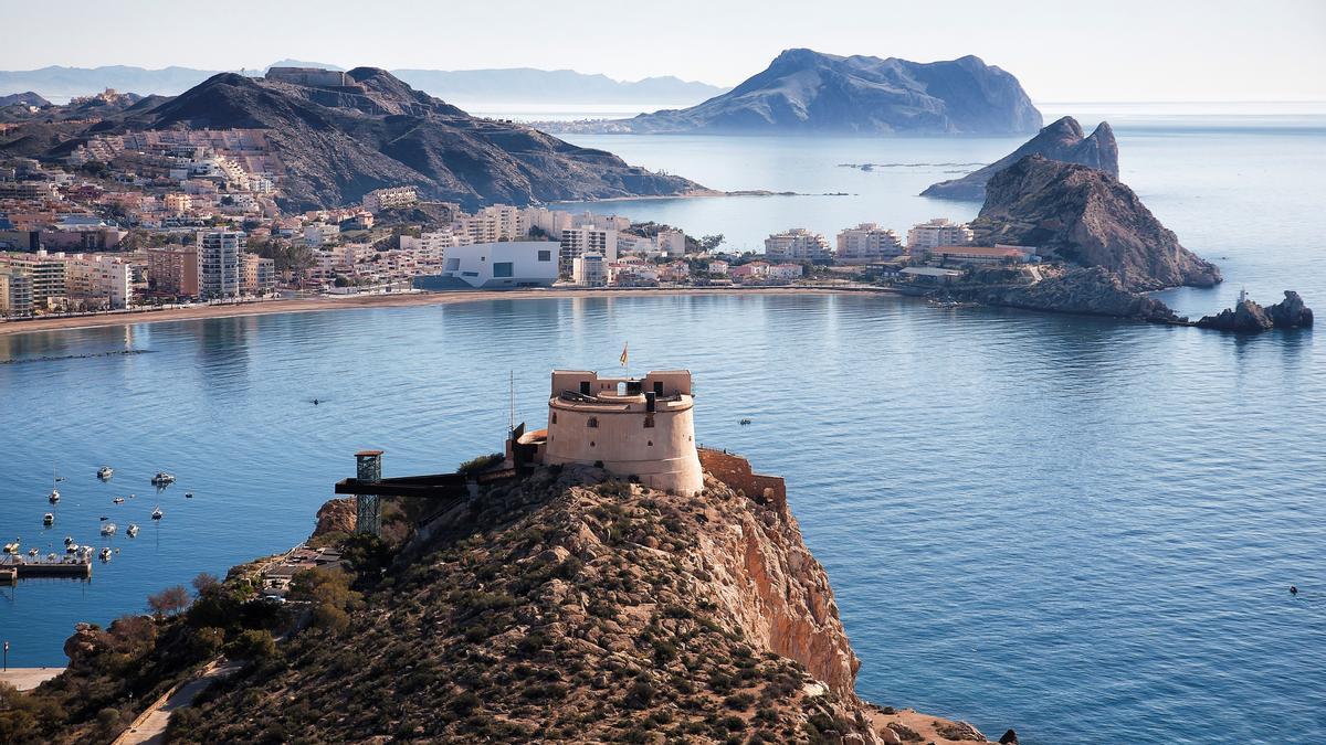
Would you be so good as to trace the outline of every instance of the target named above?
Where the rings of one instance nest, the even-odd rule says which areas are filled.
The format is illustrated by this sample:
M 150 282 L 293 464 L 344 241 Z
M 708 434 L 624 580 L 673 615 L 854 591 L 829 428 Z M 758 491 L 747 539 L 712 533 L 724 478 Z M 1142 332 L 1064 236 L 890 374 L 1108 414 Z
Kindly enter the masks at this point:
M 487 300 L 548 300 L 565 297 L 654 297 L 696 294 L 841 294 L 859 292 L 888 292 L 882 288 L 630 288 L 630 289 L 528 289 L 528 290 L 475 290 L 450 293 L 391 293 L 332 297 L 318 296 L 305 300 L 268 300 L 233 305 L 198 305 L 163 310 L 134 310 L 30 321 L 0 322 L 0 335 L 57 331 L 68 329 L 94 329 L 126 326 L 131 323 L 159 323 L 164 321 L 196 321 L 202 318 L 229 318 L 236 315 L 267 315 L 272 313 L 314 313 L 322 310 L 354 310 L 359 308 L 407 308 L 415 305 L 452 305 Z

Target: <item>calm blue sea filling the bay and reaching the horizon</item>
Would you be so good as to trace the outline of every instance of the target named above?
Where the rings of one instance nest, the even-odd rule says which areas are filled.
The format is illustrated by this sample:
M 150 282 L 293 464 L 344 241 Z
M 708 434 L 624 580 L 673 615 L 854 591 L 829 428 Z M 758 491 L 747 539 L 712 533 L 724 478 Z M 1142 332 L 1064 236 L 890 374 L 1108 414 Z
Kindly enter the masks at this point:
M 1159 293 L 1180 313 L 1240 289 L 1262 302 L 1296 289 L 1326 312 L 1326 111 L 1042 111 L 1109 119 L 1123 180 L 1220 265 L 1221 286 Z M 789 227 L 969 219 L 979 204 L 916 194 L 1020 142 L 569 139 L 713 188 L 797 194 L 570 207 L 739 249 Z M 450 471 L 501 448 L 512 380 L 518 418 L 538 424 L 550 369 L 617 372 L 629 342 L 631 372 L 692 370 L 701 443 L 786 477 L 863 697 L 1032 745 L 1322 742 L 1318 335 L 866 294 L 554 293 L 5 335 L 0 537 L 117 553 L 89 582 L 0 587 L 0 638 L 11 665 L 62 664 L 74 623 L 143 612 L 164 586 L 298 544 L 355 451 L 385 449 L 389 476 Z M 178 483 L 154 489 L 159 469 Z M 53 475 L 64 498 L 42 529 Z M 97 536 L 102 517 L 113 538 Z

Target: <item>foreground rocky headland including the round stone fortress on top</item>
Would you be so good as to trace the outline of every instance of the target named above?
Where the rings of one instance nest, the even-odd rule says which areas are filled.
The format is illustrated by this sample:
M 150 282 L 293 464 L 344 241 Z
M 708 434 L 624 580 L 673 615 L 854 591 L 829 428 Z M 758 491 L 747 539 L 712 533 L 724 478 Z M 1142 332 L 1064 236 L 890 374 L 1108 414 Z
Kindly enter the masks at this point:
M 987 742 L 857 696 L 782 479 L 696 448 L 688 372 L 553 380 L 548 428 L 505 456 L 382 479 L 358 453 L 338 492 L 412 496 L 332 501 L 309 547 L 81 627 L 0 725 L 107 741 L 130 693 L 168 707 L 202 675 L 172 742 Z

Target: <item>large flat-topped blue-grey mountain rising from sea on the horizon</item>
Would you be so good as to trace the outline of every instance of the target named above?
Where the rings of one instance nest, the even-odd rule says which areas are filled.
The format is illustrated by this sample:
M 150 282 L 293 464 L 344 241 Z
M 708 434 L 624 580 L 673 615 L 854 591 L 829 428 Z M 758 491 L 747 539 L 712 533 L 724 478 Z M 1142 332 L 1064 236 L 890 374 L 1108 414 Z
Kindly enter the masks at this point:
M 613 122 L 635 133 L 1022 134 L 1041 126 L 1017 78 L 976 57 L 910 62 L 789 49 L 690 109 Z

